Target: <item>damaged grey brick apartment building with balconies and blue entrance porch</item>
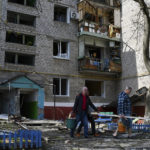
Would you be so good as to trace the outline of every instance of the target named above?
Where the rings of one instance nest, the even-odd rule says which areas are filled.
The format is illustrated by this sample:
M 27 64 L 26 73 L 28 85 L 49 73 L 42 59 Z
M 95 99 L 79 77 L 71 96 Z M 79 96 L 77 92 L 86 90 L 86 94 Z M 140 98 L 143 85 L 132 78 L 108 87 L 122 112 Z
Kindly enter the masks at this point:
M 116 100 L 120 17 L 117 0 L 0 1 L 0 113 L 62 119 L 83 86 Z

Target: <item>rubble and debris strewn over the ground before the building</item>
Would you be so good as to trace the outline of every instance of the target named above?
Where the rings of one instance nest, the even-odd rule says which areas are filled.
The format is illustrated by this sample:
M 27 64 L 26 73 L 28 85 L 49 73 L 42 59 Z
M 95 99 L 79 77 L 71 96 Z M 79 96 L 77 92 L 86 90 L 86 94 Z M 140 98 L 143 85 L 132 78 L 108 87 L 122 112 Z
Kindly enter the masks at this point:
M 70 138 L 69 130 L 63 121 L 30 120 L 27 118 L 0 119 L 0 131 L 13 132 L 18 129 L 42 131 L 42 150 L 149 150 L 150 134 L 134 133 L 131 139 L 127 134 L 120 134 L 117 139 L 112 137 L 112 131 L 106 130 L 105 125 L 99 126 L 99 137 L 85 139 L 83 132 L 80 137 Z

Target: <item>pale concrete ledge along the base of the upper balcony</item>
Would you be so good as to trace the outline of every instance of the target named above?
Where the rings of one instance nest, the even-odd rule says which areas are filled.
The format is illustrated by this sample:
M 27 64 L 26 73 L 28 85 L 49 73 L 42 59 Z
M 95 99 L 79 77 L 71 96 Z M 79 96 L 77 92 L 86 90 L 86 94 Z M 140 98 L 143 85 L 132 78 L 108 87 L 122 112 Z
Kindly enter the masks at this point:
M 101 35 L 99 33 L 92 33 L 92 32 L 86 32 L 86 31 L 79 32 L 78 36 L 93 36 L 93 37 L 101 38 L 101 39 L 104 39 L 104 40 L 107 40 L 107 41 L 121 42 L 120 38 L 114 38 L 114 37 L 110 38 L 110 37 L 108 37 L 106 35 Z

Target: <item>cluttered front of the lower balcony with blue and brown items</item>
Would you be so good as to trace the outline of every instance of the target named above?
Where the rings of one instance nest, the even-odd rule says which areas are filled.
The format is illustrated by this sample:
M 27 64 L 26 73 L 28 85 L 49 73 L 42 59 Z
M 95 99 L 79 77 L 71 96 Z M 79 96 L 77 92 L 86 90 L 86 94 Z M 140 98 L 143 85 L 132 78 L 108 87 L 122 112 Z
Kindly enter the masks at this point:
M 121 64 L 109 59 L 83 57 L 78 59 L 80 73 L 116 75 L 121 73 Z

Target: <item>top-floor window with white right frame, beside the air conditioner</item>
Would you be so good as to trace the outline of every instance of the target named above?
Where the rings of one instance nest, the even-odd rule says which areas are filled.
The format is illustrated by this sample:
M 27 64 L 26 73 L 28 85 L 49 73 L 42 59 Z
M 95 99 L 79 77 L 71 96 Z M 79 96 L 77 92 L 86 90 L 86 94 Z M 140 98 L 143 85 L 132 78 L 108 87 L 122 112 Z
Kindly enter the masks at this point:
M 70 23 L 70 9 L 64 6 L 54 6 L 54 21 Z

